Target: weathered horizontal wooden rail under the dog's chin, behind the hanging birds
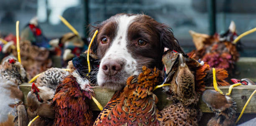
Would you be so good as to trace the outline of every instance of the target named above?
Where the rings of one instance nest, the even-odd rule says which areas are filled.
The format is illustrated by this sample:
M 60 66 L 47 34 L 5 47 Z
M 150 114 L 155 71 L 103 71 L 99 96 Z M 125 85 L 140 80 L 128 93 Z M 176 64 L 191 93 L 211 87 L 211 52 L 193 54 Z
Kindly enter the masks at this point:
M 229 86 L 219 86 L 219 88 L 224 93 L 227 93 Z M 26 105 L 26 96 L 28 92 L 31 90 L 31 84 L 28 84 L 28 83 L 21 84 L 20 89 L 24 93 L 24 100 L 25 100 L 24 103 Z M 214 89 L 214 88 L 206 87 L 206 89 Z M 249 96 L 255 89 L 256 89 L 256 86 L 243 86 L 243 85 L 233 88 L 233 91 L 230 94 L 230 96 L 237 102 L 237 113 L 241 112 L 244 104 L 246 103 Z M 102 104 L 102 106 L 105 106 L 114 94 L 114 91 L 110 89 L 100 88 L 98 86 L 95 86 L 93 90 L 95 92 L 95 98 L 100 102 L 100 104 Z M 154 91 L 154 94 L 156 94 L 156 96 L 159 99 L 157 103 L 157 107 L 159 110 L 163 109 L 164 106 L 172 104 L 172 101 L 169 101 L 166 99 L 167 95 L 165 93 L 162 93 L 161 89 L 157 89 L 156 91 Z M 202 100 L 200 100 L 198 104 L 202 112 L 212 112 Z M 253 96 L 250 103 L 246 107 L 245 113 L 256 113 L 255 104 L 256 104 L 256 95 Z M 93 101 L 90 102 L 90 107 L 94 111 L 100 111 Z

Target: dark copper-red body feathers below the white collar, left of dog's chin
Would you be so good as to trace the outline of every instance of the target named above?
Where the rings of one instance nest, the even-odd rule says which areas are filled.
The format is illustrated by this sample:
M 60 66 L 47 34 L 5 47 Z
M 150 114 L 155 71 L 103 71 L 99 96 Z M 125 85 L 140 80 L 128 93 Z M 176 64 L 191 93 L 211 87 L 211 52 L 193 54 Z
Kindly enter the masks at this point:
M 56 89 L 52 106 L 55 126 L 91 126 L 92 111 L 89 100 L 92 91 L 83 90 L 73 75 L 66 77 Z

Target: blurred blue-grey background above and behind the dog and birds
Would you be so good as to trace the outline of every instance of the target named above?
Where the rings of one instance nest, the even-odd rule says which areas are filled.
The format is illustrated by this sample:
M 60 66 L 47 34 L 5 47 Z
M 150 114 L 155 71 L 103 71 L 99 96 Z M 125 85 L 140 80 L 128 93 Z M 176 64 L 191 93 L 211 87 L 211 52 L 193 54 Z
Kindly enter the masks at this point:
M 186 52 L 195 49 L 189 30 L 212 34 L 223 33 L 230 21 L 236 23 L 241 34 L 256 27 L 255 0 L 0 0 L 0 32 L 15 34 L 15 22 L 20 20 L 22 29 L 33 17 L 46 37 L 56 38 L 70 30 L 59 20 L 59 15 L 86 37 L 87 25 L 94 25 L 117 13 L 144 13 L 155 20 L 166 23 L 174 30 Z M 215 13 L 209 13 L 215 9 Z M 210 22 L 209 18 L 215 17 Z M 213 25 L 215 24 L 215 25 Z M 213 27 L 210 27 L 213 26 Z M 242 57 L 256 57 L 256 32 L 243 37 Z

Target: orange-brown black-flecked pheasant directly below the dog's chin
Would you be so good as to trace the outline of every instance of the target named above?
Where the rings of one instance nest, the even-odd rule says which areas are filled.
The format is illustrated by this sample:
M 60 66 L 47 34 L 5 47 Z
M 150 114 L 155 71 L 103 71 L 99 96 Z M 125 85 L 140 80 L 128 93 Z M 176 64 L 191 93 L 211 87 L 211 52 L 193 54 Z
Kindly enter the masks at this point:
M 158 126 L 161 116 L 153 88 L 161 81 L 159 71 L 142 67 L 143 72 L 127 79 L 123 91 L 115 93 L 101 111 L 94 126 Z

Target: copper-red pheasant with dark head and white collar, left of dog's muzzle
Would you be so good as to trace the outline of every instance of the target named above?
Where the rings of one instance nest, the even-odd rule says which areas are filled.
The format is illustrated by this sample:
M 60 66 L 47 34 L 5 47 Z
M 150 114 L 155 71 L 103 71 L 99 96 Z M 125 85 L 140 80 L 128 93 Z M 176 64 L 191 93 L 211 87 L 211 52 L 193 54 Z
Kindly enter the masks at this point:
M 90 76 L 94 72 L 88 73 L 88 64 L 86 61 L 87 52 L 80 54 L 69 62 L 68 68 L 71 69 L 71 75 L 65 77 L 58 85 L 52 106 L 55 111 L 55 126 L 69 124 L 70 126 L 92 126 L 92 111 L 89 108 L 89 101 L 92 99 L 93 90 L 90 86 Z M 91 69 L 95 70 L 97 66 L 94 57 L 90 54 Z M 95 59 L 94 59 L 95 58 Z

